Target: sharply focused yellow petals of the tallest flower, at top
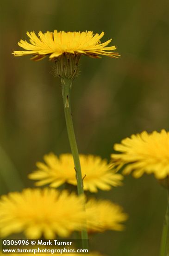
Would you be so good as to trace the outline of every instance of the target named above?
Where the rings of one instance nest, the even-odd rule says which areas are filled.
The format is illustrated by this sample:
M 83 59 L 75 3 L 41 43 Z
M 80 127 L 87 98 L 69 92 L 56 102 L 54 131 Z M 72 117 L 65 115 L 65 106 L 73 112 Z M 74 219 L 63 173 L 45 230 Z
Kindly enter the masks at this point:
M 26 40 L 20 40 L 20 47 L 26 51 L 14 51 L 14 56 L 23 56 L 27 54 L 35 55 L 32 60 L 39 61 L 49 55 L 50 60 L 56 59 L 62 54 L 85 54 L 90 57 L 98 58 L 99 55 L 118 58 L 119 54 L 111 52 L 115 46 L 106 47 L 112 39 L 104 43 L 100 42 L 104 32 L 93 34 L 92 31 L 86 32 L 64 32 L 54 30 L 42 33 L 39 31 L 38 36 L 35 32 L 26 33 L 30 38 L 30 43 Z

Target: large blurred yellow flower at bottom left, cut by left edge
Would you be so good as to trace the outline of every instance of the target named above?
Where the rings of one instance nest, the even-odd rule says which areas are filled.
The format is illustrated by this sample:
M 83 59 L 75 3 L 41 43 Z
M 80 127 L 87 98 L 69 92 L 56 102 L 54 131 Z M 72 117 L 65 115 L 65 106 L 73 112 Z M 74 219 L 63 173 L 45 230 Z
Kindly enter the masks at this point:
M 69 236 L 85 221 L 83 199 L 56 189 L 24 189 L 0 199 L 0 236 L 24 232 L 28 238 Z

